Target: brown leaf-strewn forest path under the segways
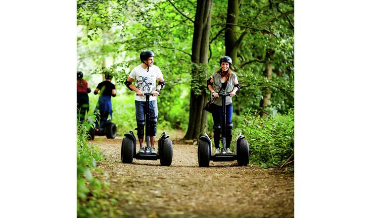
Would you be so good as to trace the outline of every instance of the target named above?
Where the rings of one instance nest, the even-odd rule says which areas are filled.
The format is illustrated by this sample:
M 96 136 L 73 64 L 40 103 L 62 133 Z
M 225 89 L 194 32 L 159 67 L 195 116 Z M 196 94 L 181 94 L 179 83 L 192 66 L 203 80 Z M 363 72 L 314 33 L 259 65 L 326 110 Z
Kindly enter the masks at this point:
M 111 193 L 126 213 L 123 217 L 294 217 L 292 171 L 265 169 L 251 162 L 241 167 L 236 161 L 210 161 L 209 167 L 198 167 L 197 146 L 181 140 L 181 131 L 169 135 L 171 166 L 161 166 L 159 160 L 121 163 L 122 137 L 95 136 L 91 142 L 103 154 L 97 167 L 108 174 Z

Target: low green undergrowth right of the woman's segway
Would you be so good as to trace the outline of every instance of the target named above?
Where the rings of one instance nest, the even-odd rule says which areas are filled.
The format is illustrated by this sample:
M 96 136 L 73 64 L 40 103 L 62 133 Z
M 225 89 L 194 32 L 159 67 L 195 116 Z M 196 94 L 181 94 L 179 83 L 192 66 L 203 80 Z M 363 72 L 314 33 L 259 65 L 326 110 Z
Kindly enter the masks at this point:
M 239 128 L 249 142 L 252 162 L 263 167 L 279 167 L 294 154 L 293 109 L 287 114 L 268 118 L 247 111 L 244 117 Z

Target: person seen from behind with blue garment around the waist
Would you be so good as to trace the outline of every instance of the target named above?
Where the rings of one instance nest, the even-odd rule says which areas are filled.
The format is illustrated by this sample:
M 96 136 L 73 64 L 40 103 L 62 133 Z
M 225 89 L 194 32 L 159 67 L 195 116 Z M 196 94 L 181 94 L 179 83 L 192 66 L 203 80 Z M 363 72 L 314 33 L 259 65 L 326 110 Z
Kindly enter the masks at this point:
M 112 76 L 106 74 L 105 81 L 98 84 L 94 90 L 94 95 L 99 93 L 98 103 L 94 109 L 94 114 L 97 116 L 95 122 L 95 130 L 102 131 L 103 126 L 108 119 L 108 115 L 112 117 L 111 96 L 116 97 L 116 87 L 111 83 Z

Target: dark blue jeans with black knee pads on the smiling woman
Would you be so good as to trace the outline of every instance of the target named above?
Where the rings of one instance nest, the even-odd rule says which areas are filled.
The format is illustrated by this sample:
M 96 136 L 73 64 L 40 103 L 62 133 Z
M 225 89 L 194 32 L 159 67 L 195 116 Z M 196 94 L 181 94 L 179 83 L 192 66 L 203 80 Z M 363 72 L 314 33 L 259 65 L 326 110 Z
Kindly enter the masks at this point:
M 226 105 L 226 126 L 229 123 L 232 123 L 232 111 L 233 106 L 232 104 Z M 219 141 L 220 141 L 220 134 L 222 133 L 222 112 L 223 108 L 222 106 L 215 106 L 214 111 L 212 112 L 213 120 L 214 120 L 214 144 L 215 148 L 219 148 Z M 231 140 L 232 140 L 232 129 L 226 128 L 226 147 L 229 148 L 231 146 Z

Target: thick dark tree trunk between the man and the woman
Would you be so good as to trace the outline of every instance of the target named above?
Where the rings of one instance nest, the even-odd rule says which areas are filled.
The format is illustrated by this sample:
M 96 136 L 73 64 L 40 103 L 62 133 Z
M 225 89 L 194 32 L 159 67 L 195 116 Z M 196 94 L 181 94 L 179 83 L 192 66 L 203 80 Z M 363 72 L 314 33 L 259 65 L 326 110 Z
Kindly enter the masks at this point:
M 205 91 L 209 52 L 211 7 L 213 0 L 197 0 L 192 41 L 192 81 L 190 91 L 188 129 L 184 139 L 196 139 L 206 130 L 207 117 L 203 106 L 208 95 Z M 199 88 L 199 85 L 205 84 Z

